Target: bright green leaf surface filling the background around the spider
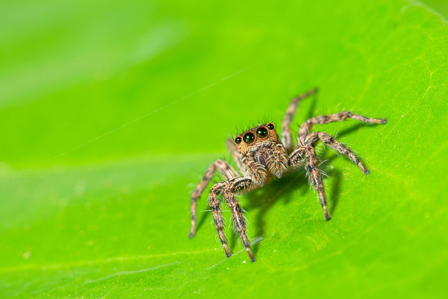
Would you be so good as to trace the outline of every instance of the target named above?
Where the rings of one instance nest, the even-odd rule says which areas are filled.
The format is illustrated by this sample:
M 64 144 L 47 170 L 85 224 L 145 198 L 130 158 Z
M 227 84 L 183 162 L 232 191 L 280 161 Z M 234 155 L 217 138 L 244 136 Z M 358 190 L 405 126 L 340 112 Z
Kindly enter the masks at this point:
M 427 4 L 1 1 L 0 297 L 442 297 L 448 6 Z M 314 86 L 296 132 L 388 117 L 316 128 L 370 175 L 319 147 L 328 222 L 304 170 L 241 196 L 254 264 L 205 194 L 190 240 L 235 126 Z

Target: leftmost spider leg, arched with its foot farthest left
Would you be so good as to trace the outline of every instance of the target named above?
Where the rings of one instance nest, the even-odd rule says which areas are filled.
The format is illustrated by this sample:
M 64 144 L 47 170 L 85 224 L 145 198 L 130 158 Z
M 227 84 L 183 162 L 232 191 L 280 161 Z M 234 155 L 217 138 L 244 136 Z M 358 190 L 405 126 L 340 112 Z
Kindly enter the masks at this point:
M 227 162 L 223 160 L 216 160 L 213 162 L 206 172 L 204 173 L 204 176 L 199 182 L 196 189 L 194 189 L 193 193 L 191 194 L 191 228 L 190 228 L 190 238 L 193 238 L 196 228 L 196 205 L 197 200 L 201 196 L 202 192 L 204 191 L 205 187 L 210 182 L 211 178 L 215 175 L 215 171 L 219 170 L 220 173 L 222 173 L 227 178 L 237 178 L 239 177 L 238 173 L 230 166 Z

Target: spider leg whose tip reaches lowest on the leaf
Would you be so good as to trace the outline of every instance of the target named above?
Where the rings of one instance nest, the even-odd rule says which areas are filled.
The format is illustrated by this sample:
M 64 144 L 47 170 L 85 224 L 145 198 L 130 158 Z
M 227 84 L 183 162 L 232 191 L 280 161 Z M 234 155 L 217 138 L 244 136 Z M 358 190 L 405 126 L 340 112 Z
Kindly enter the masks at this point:
M 232 211 L 233 222 L 240 235 L 241 241 L 249 254 L 250 260 L 255 261 L 254 254 L 250 249 L 250 242 L 246 235 L 246 222 L 244 221 L 243 212 L 237 199 L 235 198 L 235 193 L 246 191 L 251 186 L 253 186 L 253 181 L 250 177 L 239 177 L 230 180 L 224 188 L 224 199 Z M 227 255 L 227 254 L 226 254 Z

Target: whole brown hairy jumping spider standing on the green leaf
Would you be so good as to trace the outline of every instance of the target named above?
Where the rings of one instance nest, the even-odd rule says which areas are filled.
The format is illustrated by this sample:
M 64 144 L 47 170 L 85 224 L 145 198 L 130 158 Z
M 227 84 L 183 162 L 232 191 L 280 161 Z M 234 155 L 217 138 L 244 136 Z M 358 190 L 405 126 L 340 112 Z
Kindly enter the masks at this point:
M 190 238 L 194 236 L 196 226 L 196 201 L 201 196 L 215 170 L 220 171 L 228 181 L 215 183 L 208 195 L 208 202 L 213 212 L 216 230 L 224 247 L 225 255 L 231 256 L 228 249 L 227 239 L 224 234 L 224 220 L 221 212 L 220 202 L 217 195 L 224 195 L 224 199 L 232 212 L 233 222 L 241 240 L 246 247 L 250 260 L 255 261 L 254 254 L 250 250 L 250 243 L 246 235 L 246 222 L 235 194 L 253 190 L 269 182 L 273 176 L 281 178 L 285 173 L 296 170 L 306 164 L 310 175 L 310 181 L 317 190 L 320 204 L 323 208 L 325 220 L 330 219 L 328 215 L 325 191 L 323 190 L 322 177 L 317 164 L 314 147 L 319 139 L 328 147 L 348 156 L 363 173 L 369 174 L 369 170 L 362 164 L 358 157 L 353 154 L 343 143 L 324 132 L 313 132 L 310 130 L 314 124 L 326 124 L 333 121 L 344 121 L 347 118 L 357 119 L 373 124 L 385 124 L 386 119 L 369 118 L 354 114 L 349 111 L 330 115 L 321 115 L 310 118 L 300 126 L 298 133 L 298 144 L 294 149 L 293 137 L 289 125 L 297 109 L 300 100 L 313 95 L 317 89 L 312 89 L 302 95 L 295 97 L 289 104 L 286 115 L 281 126 L 281 141 L 275 131 L 273 123 L 259 124 L 257 127 L 239 134 L 233 141 L 227 140 L 227 146 L 237 163 L 240 176 L 232 166 L 223 160 L 216 160 L 204 174 L 201 182 L 191 195 L 191 229 Z

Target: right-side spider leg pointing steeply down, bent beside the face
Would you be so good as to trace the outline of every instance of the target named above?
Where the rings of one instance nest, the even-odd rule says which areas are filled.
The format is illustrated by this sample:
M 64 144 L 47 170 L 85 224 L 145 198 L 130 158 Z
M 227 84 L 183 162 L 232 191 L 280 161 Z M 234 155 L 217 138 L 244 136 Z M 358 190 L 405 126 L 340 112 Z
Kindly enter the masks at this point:
M 302 157 L 305 156 L 306 166 L 308 167 L 308 172 L 310 174 L 310 181 L 313 184 L 315 190 L 319 195 L 320 205 L 323 209 L 323 215 L 325 220 L 330 219 L 328 215 L 327 200 L 325 198 L 325 190 L 323 188 L 322 176 L 320 175 L 319 167 L 317 165 L 317 156 L 314 147 L 311 145 L 301 145 L 289 156 L 288 164 L 293 168 L 297 168 L 301 165 Z

